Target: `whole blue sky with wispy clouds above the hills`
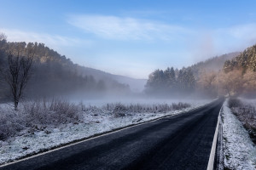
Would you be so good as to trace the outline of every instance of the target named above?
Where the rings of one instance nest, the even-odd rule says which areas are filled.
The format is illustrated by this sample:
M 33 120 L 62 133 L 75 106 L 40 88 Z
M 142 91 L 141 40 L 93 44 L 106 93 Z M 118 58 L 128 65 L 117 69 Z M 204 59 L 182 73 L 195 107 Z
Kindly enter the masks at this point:
M 256 1 L 0 0 L 9 41 L 44 42 L 74 63 L 147 78 L 256 43 Z

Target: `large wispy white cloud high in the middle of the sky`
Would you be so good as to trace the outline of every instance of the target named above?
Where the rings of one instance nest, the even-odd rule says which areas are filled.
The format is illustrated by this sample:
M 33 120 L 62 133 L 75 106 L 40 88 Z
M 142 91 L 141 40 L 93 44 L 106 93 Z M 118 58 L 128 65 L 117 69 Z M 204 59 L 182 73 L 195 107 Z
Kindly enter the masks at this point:
M 98 37 L 117 40 L 169 40 L 187 32 L 181 26 L 171 26 L 152 20 L 104 15 L 71 15 L 67 22 Z

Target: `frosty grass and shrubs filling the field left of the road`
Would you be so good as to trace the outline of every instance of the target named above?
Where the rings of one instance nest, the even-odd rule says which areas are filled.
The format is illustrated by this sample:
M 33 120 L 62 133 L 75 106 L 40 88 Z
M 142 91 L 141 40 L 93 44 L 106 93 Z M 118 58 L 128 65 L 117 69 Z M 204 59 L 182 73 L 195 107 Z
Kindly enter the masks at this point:
M 49 150 L 62 144 L 89 138 L 161 116 L 172 116 L 210 100 L 177 104 L 120 103 L 92 106 L 70 104 L 65 100 L 28 102 L 13 111 L 9 105 L 0 106 L 0 164 Z M 17 124 L 17 126 L 13 126 Z M 9 127 L 11 127 L 9 129 Z M 6 132 L 4 132 L 6 131 Z

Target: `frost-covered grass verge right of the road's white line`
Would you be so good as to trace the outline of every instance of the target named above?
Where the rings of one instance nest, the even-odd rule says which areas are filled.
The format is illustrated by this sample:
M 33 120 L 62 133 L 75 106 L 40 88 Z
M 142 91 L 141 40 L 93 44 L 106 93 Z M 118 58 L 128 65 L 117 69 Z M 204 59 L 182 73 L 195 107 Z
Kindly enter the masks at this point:
M 224 169 L 256 169 L 256 147 L 242 123 L 230 111 L 227 100 L 222 121 Z

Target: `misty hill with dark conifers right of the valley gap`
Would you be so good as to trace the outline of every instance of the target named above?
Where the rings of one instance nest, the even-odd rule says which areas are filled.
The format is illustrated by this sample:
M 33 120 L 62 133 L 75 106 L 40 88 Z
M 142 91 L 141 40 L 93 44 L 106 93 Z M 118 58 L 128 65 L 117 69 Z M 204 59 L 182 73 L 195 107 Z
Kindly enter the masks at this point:
M 230 53 L 201 61 L 182 69 L 166 68 L 165 71 L 155 70 L 148 76 L 146 84 L 147 94 L 160 94 L 161 96 L 183 96 L 201 88 L 201 83 L 216 81 L 216 74 L 222 71 L 227 59 L 233 59 L 240 53 Z M 171 65 L 172 66 L 172 65 Z M 206 79 L 207 80 L 202 80 Z M 212 79 L 211 79 L 212 78 Z M 212 94 L 210 92 L 209 94 Z M 214 94 L 215 95 L 215 94 Z

